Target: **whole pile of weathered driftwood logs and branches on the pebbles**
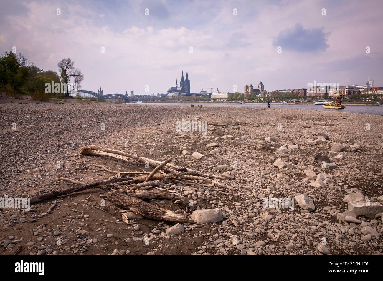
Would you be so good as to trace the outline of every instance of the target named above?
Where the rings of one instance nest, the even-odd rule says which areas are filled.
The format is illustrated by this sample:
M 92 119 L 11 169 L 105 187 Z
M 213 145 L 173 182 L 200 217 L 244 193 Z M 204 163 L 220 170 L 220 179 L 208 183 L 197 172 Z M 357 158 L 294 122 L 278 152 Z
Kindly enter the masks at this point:
M 176 189 L 179 191 L 177 194 L 173 191 L 174 184 L 181 184 L 181 186 L 196 186 L 205 190 L 223 194 L 226 194 L 225 191 L 227 192 L 228 190 L 236 189 L 216 181 L 216 179 L 227 180 L 225 177 L 177 166 L 171 163 L 171 157 L 166 159 L 164 162 L 160 162 L 123 151 L 93 145 L 83 146 L 80 150 L 80 155 L 110 157 L 136 166 L 142 165 L 148 167 L 149 165 L 149 167 L 152 167 L 153 170 L 151 172 L 147 172 L 142 169 L 140 171 L 113 171 L 102 165 L 94 164 L 93 166 L 100 167 L 106 172 L 115 174 L 115 176 L 107 180 L 98 180 L 89 184 L 67 178 L 59 178 L 59 180 L 64 180 L 77 186 L 67 188 L 65 190 L 57 190 L 36 195 L 31 198 L 31 203 L 33 204 L 48 198 L 67 195 L 72 192 L 83 191 L 88 188 L 111 186 L 112 190 L 109 195 L 103 197 L 118 206 L 133 211 L 136 214 L 141 214 L 142 216 L 150 219 L 193 223 L 188 216 L 182 213 L 159 208 L 143 200 L 155 198 L 165 200 L 184 200 L 182 193 L 183 187 L 176 186 Z M 206 169 L 209 168 L 211 167 Z M 171 186 L 172 188 L 170 189 Z

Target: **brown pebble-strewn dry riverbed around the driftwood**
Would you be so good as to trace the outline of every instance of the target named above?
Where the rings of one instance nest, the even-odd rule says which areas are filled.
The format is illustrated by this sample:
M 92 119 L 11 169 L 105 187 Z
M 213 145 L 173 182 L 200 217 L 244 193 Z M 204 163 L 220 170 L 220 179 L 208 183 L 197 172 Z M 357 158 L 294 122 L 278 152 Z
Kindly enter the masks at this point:
M 347 194 L 360 191 L 372 202 L 382 196 L 383 146 L 379 143 L 383 141 L 383 116 L 266 106 L 190 108 L 85 104 L 75 100 L 55 104 L 4 98 L 0 99 L 0 114 L 1 197 L 31 197 L 73 186 L 58 177 L 92 182 L 113 176 L 93 164 L 121 171 L 139 168 L 113 159 L 79 156 L 83 145 L 104 146 L 159 161 L 173 156 L 175 164 L 198 170 L 217 162 L 228 164 L 235 179 L 220 181 L 237 188 L 222 194 L 192 187 L 187 197 L 195 204 L 190 208 L 168 200 L 151 201 L 173 211 L 181 208 L 188 214 L 204 208 L 222 211 L 222 222 L 185 224 L 185 232 L 170 237 L 164 232 L 172 226 L 170 223 L 145 218 L 123 223 L 118 206 L 107 200 L 105 206 L 100 205 L 100 195 L 110 192 L 105 188 L 43 201 L 33 205 L 31 211 L 2 208 L 1 254 L 356 255 L 383 251 L 380 214 L 373 218 L 358 216 L 362 224 L 337 219 L 337 214 L 348 210 L 342 201 Z M 208 122 L 207 135 L 176 132 L 177 121 L 198 117 Z M 220 122 L 229 124 L 219 126 Z M 366 130 L 367 123 L 370 130 Z M 329 135 L 326 143 L 309 145 L 308 140 L 316 140 L 319 132 Z M 234 139 L 224 140 L 224 135 Z M 267 137 L 276 140 L 265 141 Z M 217 147 L 206 147 L 214 141 Z M 322 171 L 314 155 L 328 156 L 331 146 L 339 142 L 354 148 L 354 152 L 340 153 L 344 160 L 330 157 L 337 168 Z M 270 150 L 258 149 L 265 143 Z M 294 149 L 294 144 L 298 148 Z M 291 146 L 288 153 L 273 150 L 283 145 Z M 209 154 L 215 148 L 220 152 Z M 184 156 L 183 150 L 198 151 L 205 158 Z M 295 166 L 273 166 L 277 158 Z M 309 178 L 304 170 L 326 173 L 325 185 L 311 186 L 315 177 Z M 225 171 L 210 170 L 216 175 Z M 262 198 L 269 195 L 292 198 L 302 193 L 311 198 L 314 211 L 303 210 L 296 202 L 293 211 L 262 205 Z M 86 200 L 89 195 L 92 201 Z M 49 214 L 54 200 L 57 205 Z M 366 226 L 372 230 L 366 230 Z

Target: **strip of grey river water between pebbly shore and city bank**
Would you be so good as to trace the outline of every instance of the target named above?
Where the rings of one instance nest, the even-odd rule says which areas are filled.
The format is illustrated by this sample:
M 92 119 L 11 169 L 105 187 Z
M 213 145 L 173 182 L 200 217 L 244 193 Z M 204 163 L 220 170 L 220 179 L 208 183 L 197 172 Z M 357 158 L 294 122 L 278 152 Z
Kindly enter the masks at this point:
M 173 103 L 173 102 L 148 102 L 144 103 L 146 105 L 167 105 L 167 106 L 194 106 L 198 105 L 198 102 L 183 102 L 183 103 Z M 143 105 L 144 105 L 143 104 Z M 267 107 L 267 104 L 226 104 L 226 103 L 200 103 L 202 106 L 239 106 L 239 107 Z M 311 105 L 311 104 L 271 104 L 270 107 L 275 108 L 293 108 L 293 109 L 313 109 L 313 110 L 324 110 L 324 111 L 336 111 L 336 112 L 354 112 L 354 113 L 363 113 L 363 114 L 376 114 L 383 115 L 383 105 L 380 106 L 349 106 L 346 105 L 345 109 L 326 109 L 321 105 Z

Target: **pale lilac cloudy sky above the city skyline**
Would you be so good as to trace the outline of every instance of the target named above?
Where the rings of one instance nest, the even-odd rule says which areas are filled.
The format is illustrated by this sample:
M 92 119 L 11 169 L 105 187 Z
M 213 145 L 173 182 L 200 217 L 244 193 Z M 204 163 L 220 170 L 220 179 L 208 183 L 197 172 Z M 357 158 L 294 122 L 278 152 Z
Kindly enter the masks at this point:
M 57 71 L 62 58 L 71 58 L 85 76 L 82 88 L 101 86 L 104 94 L 166 93 L 182 70 L 192 92 L 232 92 L 234 85 L 243 92 L 261 79 L 267 91 L 307 88 L 314 80 L 361 85 L 368 75 L 383 86 L 381 0 L 0 0 L 0 6 L 0 52 L 15 46 L 44 70 Z

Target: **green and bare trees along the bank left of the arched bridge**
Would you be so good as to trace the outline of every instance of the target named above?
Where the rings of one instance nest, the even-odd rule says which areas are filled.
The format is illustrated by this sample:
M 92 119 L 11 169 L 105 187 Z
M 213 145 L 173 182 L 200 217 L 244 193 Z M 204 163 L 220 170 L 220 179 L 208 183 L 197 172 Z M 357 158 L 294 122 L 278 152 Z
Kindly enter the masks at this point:
M 71 83 L 81 88 L 84 75 L 74 67 L 74 61 L 63 58 L 57 63 L 58 71 L 42 70 L 21 53 L 12 51 L 0 55 L 0 95 L 20 98 L 21 95 L 32 95 L 34 99 L 48 100 L 50 97 L 69 96 Z M 64 90 L 47 90 L 47 84 L 65 83 Z M 56 84 L 56 85 L 57 85 Z

